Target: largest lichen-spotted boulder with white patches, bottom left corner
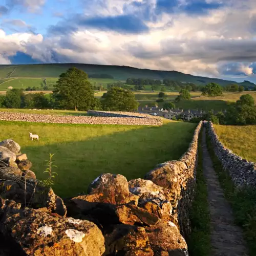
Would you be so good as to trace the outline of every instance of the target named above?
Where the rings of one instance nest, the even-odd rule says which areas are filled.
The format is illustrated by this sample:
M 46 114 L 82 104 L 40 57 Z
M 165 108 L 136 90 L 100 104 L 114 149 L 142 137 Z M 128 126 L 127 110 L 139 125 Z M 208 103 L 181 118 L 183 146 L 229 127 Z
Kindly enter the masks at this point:
M 45 209 L 26 208 L 9 216 L 1 232 L 27 255 L 100 256 L 105 251 L 104 237 L 94 223 L 60 218 Z

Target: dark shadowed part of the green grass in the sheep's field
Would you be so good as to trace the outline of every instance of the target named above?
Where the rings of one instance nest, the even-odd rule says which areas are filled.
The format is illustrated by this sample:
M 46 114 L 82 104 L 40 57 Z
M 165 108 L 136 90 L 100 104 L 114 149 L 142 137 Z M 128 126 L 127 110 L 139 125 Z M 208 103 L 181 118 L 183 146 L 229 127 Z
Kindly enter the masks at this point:
M 64 126 L 59 127 L 59 133 Z M 49 153 L 55 154 L 54 171 L 58 176 L 53 188 L 61 197 L 75 196 L 86 192 L 102 173 L 122 174 L 127 180 L 143 178 L 156 164 L 179 159 L 187 150 L 195 126 L 184 122 L 137 126 L 134 130 L 99 134 L 82 141 L 24 146 L 22 152 L 32 161 L 38 179 L 46 178 L 45 160 Z M 100 126 L 97 127 L 100 131 Z

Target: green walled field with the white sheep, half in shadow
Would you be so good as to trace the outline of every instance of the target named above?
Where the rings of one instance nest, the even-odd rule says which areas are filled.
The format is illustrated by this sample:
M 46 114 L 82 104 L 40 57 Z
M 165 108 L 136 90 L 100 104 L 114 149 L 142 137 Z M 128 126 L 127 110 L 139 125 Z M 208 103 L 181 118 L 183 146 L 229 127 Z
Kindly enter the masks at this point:
M 55 154 L 58 176 L 53 189 L 61 197 L 71 197 L 86 192 L 101 173 L 143 178 L 156 164 L 179 159 L 195 127 L 175 121 L 161 127 L 0 121 L 0 141 L 11 138 L 19 143 L 38 179 L 46 178 L 45 160 Z M 39 141 L 31 141 L 29 132 L 38 134 Z

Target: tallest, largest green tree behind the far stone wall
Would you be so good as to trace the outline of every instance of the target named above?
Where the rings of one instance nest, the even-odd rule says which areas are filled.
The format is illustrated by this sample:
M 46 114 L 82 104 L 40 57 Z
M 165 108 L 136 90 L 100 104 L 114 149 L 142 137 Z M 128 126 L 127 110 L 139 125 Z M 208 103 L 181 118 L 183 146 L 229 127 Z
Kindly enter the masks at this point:
M 59 76 L 54 85 L 54 98 L 58 108 L 89 110 L 94 109 L 97 100 L 87 73 L 77 68 L 70 68 Z

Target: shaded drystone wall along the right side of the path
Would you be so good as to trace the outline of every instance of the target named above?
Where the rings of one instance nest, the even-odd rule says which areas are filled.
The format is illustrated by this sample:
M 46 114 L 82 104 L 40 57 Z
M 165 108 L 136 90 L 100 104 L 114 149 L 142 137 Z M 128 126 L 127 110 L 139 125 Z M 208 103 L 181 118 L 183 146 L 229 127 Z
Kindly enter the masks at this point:
M 211 143 L 223 168 L 229 173 L 234 185 L 236 186 L 255 186 L 256 185 L 256 163 L 248 162 L 246 159 L 234 154 L 229 148 L 225 147 L 219 140 L 214 125 L 208 123 Z M 241 141 L 243 143 L 243 141 Z

